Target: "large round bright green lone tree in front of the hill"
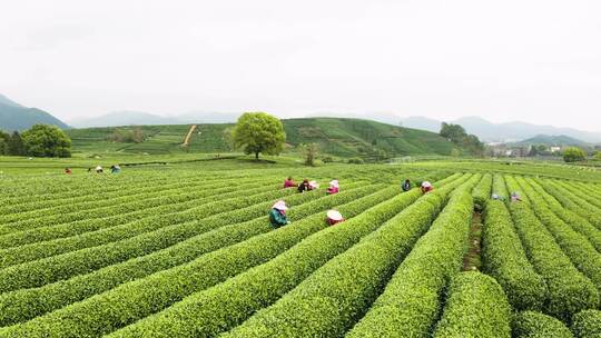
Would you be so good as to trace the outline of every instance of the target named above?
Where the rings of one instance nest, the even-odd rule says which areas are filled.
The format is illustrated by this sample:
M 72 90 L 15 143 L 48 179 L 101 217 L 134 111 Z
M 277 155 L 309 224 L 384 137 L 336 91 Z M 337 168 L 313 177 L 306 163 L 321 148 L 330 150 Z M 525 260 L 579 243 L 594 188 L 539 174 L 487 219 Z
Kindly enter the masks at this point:
M 245 153 L 278 155 L 284 149 L 286 133 L 277 118 L 265 112 L 245 112 L 231 131 L 234 146 Z

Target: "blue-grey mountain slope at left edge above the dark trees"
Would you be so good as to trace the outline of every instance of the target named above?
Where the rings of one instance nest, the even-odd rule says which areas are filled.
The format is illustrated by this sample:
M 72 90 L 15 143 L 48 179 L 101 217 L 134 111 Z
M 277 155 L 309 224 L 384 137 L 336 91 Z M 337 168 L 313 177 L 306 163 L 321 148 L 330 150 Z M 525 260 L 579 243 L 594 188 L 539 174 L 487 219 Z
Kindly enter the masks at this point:
M 36 123 L 53 125 L 68 129 L 61 120 L 38 108 L 23 107 L 0 95 L 0 129 L 6 131 L 29 129 Z

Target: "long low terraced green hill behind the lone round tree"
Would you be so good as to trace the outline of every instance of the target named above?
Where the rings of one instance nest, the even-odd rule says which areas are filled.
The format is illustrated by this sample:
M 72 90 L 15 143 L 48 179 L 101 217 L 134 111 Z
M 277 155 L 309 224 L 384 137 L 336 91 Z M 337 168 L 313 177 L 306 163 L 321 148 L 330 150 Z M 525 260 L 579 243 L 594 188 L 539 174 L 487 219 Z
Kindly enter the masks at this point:
M 339 157 L 400 157 L 407 155 L 450 155 L 453 143 L 436 133 L 370 120 L 306 118 L 283 120 L 288 149 L 315 142 L 321 152 Z M 189 125 L 139 126 L 72 129 L 68 133 L 76 152 L 119 151 L 128 153 L 228 152 L 225 130 L 233 123 L 197 125 L 187 149 L 180 145 Z M 147 136 L 139 143 L 111 142 L 120 131 L 141 129 Z

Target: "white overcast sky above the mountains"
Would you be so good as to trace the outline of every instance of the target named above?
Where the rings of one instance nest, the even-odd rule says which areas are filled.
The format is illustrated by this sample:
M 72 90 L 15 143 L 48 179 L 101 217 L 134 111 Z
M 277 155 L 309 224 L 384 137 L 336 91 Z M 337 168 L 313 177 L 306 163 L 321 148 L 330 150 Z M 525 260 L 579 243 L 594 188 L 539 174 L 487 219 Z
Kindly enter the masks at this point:
M 0 93 L 115 110 L 601 130 L 599 0 L 2 0 Z

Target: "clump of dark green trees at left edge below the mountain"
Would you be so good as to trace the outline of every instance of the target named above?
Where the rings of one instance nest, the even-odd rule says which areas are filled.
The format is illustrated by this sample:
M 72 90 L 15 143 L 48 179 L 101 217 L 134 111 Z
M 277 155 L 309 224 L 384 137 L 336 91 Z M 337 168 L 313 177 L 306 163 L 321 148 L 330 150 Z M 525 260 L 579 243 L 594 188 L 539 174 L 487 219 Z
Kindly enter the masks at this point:
M 71 157 L 71 139 L 48 125 L 35 125 L 22 133 L 0 131 L 0 155 Z

